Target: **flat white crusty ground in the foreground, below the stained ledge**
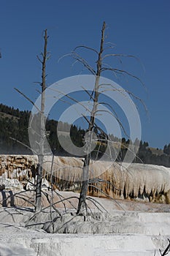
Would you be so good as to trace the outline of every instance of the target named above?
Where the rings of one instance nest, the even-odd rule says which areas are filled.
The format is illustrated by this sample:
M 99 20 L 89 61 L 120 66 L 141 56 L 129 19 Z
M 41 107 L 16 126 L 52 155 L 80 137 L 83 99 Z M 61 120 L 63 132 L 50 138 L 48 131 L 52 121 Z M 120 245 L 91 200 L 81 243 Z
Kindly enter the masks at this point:
M 67 197 L 74 193 L 62 192 L 62 195 Z M 118 206 L 112 200 L 97 200 L 110 215 L 103 214 L 96 222 L 84 222 L 78 217 L 73 225 L 68 225 L 69 231 L 77 232 L 74 234 L 46 233 L 40 226 L 26 228 L 26 220 L 32 214 L 28 208 L 0 208 L 0 255 L 153 256 L 155 253 L 158 256 L 158 249 L 168 245 L 169 205 L 118 200 Z M 124 211 L 118 210 L 120 206 Z M 45 215 L 39 215 L 39 222 L 45 222 Z M 100 233 L 90 233 L 97 226 Z

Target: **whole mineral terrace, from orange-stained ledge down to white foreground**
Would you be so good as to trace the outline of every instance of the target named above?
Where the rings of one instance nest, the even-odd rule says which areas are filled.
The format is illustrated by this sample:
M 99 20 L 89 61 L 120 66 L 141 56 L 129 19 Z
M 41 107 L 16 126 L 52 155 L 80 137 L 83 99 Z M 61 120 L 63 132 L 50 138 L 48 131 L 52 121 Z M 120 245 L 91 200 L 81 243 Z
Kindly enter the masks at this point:
M 1 256 L 160 256 L 159 249 L 166 249 L 170 238 L 170 168 L 156 165 L 133 164 L 127 169 L 120 164 L 96 162 L 90 166 L 90 178 L 108 181 L 99 184 L 107 199 L 97 189 L 91 188 L 88 195 L 97 200 L 108 213 L 99 214 L 91 207 L 94 218 L 74 217 L 69 213 L 77 206 L 78 193 L 60 191 L 75 189 L 82 175 L 82 159 L 55 157 L 53 176 L 59 190 L 54 200 L 74 196 L 72 206 L 67 202 L 67 213 L 62 219 L 49 222 L 49 212 L 39 214 L 26 226 L 33 214 L 31 204 L 20 197 L 9 197 L 23 191 L 26 178 L 32 178 L 36 170 L 36 156 L 0 156 L 0 255 Z M 109 166 L 106 170 L 106 167 Z M 46 176 L 50 175 L 51 158 L 45 158 Z M 119 190 L 112 187 L 114 184 Z M 47 181 L 45 180 L 47 187 Z M 93 181 L 93 185 L 98 185 Z M 30 186 L 30 184 L 27 184 Z M 34 202 L 34 192 L 24 191 L 25 198 Z M 47 193 L 50 193 L 47 191 Z M 99 196 L 99 197 L 98 197 Z M 4 200 L 4 198 L 8 200 Z M 125 200 L 126 198 L 126 200 Z M 131 200 L 136 199 L 138 202 Z M 121 200 L 120 200 L 121 199 Z M 4 201 L 3 201 L 4 200 Z M 144 203 L 146 201 L 146 203 Z M 149 203 L 155 202 L 155 203 Z M 3 203 L 4 202 L 4 203 Z M 91 202 L 89 202 L 91 203 Z M 47 200 L 42 197 L 43 207 Z M 15 207 L 14 207 L 15 206 Z M 62 203 L 57 205 L 63 211 Z M 55 211 L 53 211 L 55 216 Z M 49 233 L 49 232 L 55 233 Z M 57 233 L 58 232 L 58 233 Z

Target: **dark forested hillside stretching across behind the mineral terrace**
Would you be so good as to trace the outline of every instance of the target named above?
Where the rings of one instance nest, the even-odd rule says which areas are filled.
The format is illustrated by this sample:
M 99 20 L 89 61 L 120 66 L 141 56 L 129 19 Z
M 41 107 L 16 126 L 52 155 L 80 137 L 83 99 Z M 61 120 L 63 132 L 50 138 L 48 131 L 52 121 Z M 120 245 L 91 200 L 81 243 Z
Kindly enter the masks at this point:
M 0 104 L 0 154 L 32 154 L 31 150 L 20 145 L 20 143 L 16 141 L 19 140 L 29 146 L 28 121 L 30 113 L 31 112 L 28 110 L 20 111 L 19 109 Z M 55 148 L 55 154 L 57 155 L 70 156 L 70 154 L 63 150 L 58 142 L 57 125 L 58 121 L 47 119 L 46 131 L 50 147 L 52 150 Z M 68 126 L 67 123 L 63 123 L 62 125 L 65 128 Z M 63 132 L 63 135 L 65 135 L 65 133 Z M 70 136 L 76 146 L 83 146 L 84 135 L 84 129 L 72 125 Z M 125 140 L 125 138 L 116 138 L 114 135 L 110 136 L 112 137 L 112 140 L 115 141 L 115 143 L 113 143 L 115 150 L 117 149 L 115 145 L 121 143 L 121 151 L 117 157 L 117 161 L 122 161 L 125 157 L 129 140 Z M 9 137 L 15 138 L 16 140 L 12 140 Z M 101 141 L 100 139 L 102 139 L 101 134 L 98 135 L 98 142 Z M 98 151 L 98 149 L 100 151 L 98 157 L 103 154 L 106 146 L 107 144 L 104 143 L 103 140 L 102 143 L 96 143 L 95 149 L 96 151 Z M 96 158 L 96 151 L 93 151 L 92 153 L 93 158 Z M 159 149 L 149 147 L 147 142 L 141 141 L 135 162 L 170 167 L 170 144 L 168 146 L 166 145 L 163 149 Z

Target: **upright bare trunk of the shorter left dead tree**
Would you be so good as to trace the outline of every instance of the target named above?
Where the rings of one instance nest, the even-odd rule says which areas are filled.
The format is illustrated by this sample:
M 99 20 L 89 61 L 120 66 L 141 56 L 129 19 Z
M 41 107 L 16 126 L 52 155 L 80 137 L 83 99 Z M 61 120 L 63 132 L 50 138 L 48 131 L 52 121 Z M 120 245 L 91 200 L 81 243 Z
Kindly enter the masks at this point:
M 45 142 L 45 89 L 46 89 L 46 61 L 47 61 L 47 29 L 45 29 L 45 46 L 44 53 L 42 53 L 42 99 L 41 99 L 41 112 L 40 112 L 40 141 L 39 141 L 39 170 L 36 176 L 36 211 L 41 210 L 42 203 L 42 176 L 43 176 L 43 161 L 44 161 L 44 142 Z

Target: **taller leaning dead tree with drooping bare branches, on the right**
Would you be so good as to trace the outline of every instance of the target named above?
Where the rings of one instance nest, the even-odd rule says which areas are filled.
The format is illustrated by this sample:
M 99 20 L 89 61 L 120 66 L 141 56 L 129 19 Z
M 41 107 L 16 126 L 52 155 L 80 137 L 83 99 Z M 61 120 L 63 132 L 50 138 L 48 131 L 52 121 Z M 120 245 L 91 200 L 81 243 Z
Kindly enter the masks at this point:
M 136 77 L 135 75 L 132 75 L 130 72 L 125 71 L 124 69 L 118 69 L 118 68 L 114 68 L 114 67 L 110 67 L 109 65 L 104 63 L 104 60 L 107 59 L 107 57 L 116 57 L 117 59 L 121 59 L 122 57 L 131 57 L 131 58 L 135 58 L 135 56 L 130 56 L 130 55 L 123 55 L 123 54 L 105 54 L 104 55 L 104 40 L 105 40 L 105 29 L 106 29 L 106 23 L 103 23 L 102 29 L 101 29 L 101 42 L 100 42 L 100 48 L 99 51 L 94 49 L 94 48 L 90 48 L 88 46 L 85 45 L 80 45 L 77 48 L 74 49 L 74 51 L 71 53 L 73 59 L 75 59 L 76 62 L 80 62 L 85 69 L 88 69 L 88 71 L 90 71 L 90 73 L 92 75 L 95 76 L 95 84 L 93 87 L 93 92 L 90 95 L 88 91 L 86 91 L 89 95 L 90 95 L 90 99 L 93 102 L 93 107 L 92 110 L 90 111 L 90 120 L 88 120 L 85 116 L 85 120 L 88 121 L 88 130 L 87 132 L 92 132 L 93 129 L 98 129 L 100 132 L 102 132 L 105 135 L 105 140 L 108 140 L 108 135 L 105 134 L 105 132 L 96 125 L 96 113 L 98 113 L 98 105 L 101 104 L 98 101 L 98 97 L 101 94 L 101 90 L 100 87 L 101 85 L 99 84 L 99 80 L 101 77 L 101 73 L 105 72 L 105 71 L 109 71 L 112 72 L 114 75 L 128 75 L 131 78 L 135 78 L 136 80 L 138 80 L 140 83 L 142 83 L 142 81 Z M 90 64 L 88 63 L 88 61 L 86 61 L 85 59 L 82 58 L 82 56 L 80 56 L 80 54 L 77 53 L 77 49 L 79 48 L 84 48 L 85 50 L 91 50 L 93 51 L 93 53 L 97 54 L 97 61 L 96 61 L 96 70 L 93 69 L 93 67 L 90 66 Z M 109 48 L 112 49 L 113 46 L 109 45 Z M 121 60 L 120 60 L 121 62 Z M 115 91 L 117 89 L 112 88 L 112 91 Z M 129 94 L 131 97 L 134 97 L 136 99 L 139 99 L 138 97 L 135 97 L 134 94 L 132 94 L 130 91 L 126 91 L 125 92 L 127 94 Z M 123 93 L 122 91 L 120 91 L 120 94 Z M 141 102 L 141 99 L 139 99 L 139 101 Z M 107 102 L 103 102 L 103 104 L 105 105 L 109 105 L 109 103 Z M 109 105 L 110 108 L 112 108 L 112 106 Z M 85 107 L 86 108 L 86 107 Z M 113 112 L 115 113 L 115 110 L 112 108 Z M 116 113 L 115 113 L 116 114 Z M 120 118 L 116 116 L 116 119 L 118 121 L 118 123 L 120 124 L 120 127 L 123 129 L 123 131 L 125 132 L 125 129 L 123 127 L 123 124 L 121 124 Z M 91 143 L 92 143 L 92 135 L 89 135 L 88 138 L 88 147 L 90 148 Z M 88 150 L 89 152 L 90 150 Z M 79 199 L 79 203 L 78 203 L 78 207 L 77 207 L 77 214 L 82 214 L 82 211 L 87 211 L 87 205 L 86 205 L 86 196 L 87 196 L 87 192 L 88 192 L 88 184 L 89 184 L 89 165 L 90 165 L 90 153 L 85 155 L 85 159 L 84 159 L 84 165 L 83 165 L 83 170 L 82 170 L 82 189 L 80 192 L 80 199 Z

